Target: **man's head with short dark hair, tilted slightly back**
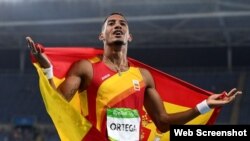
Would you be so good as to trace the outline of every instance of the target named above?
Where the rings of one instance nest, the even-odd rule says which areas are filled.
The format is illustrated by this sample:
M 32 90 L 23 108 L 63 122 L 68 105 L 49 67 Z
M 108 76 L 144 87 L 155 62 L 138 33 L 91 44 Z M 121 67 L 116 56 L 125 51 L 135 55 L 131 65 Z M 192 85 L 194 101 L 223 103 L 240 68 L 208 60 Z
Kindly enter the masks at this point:
M 99 39 L 108 45 L 127 45 L 132 41 L 128 22 L 121 13 L 112 13 L 104 21 Z

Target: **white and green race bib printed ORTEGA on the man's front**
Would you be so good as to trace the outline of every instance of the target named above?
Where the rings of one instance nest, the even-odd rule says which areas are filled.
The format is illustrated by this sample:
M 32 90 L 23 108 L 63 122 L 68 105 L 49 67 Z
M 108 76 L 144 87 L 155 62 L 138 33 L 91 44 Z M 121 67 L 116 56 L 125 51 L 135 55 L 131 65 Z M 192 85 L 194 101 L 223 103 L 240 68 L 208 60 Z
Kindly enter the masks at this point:
M 108 109 L 107 130 L 111 141 L 139 141 L 140 116 L 138 111 L 129 108 Z

